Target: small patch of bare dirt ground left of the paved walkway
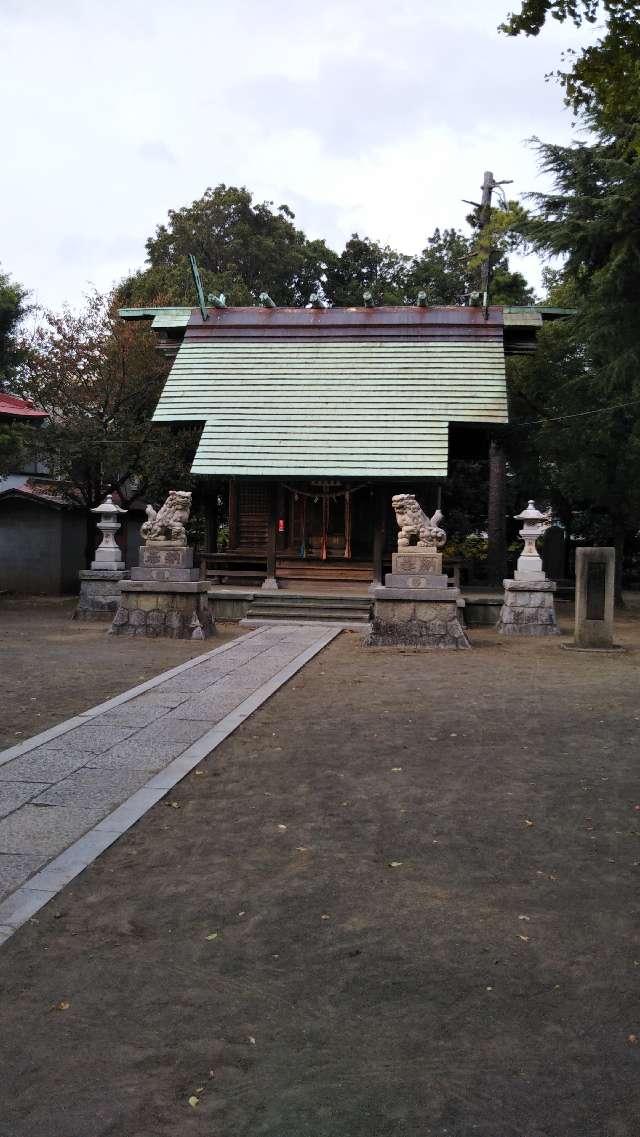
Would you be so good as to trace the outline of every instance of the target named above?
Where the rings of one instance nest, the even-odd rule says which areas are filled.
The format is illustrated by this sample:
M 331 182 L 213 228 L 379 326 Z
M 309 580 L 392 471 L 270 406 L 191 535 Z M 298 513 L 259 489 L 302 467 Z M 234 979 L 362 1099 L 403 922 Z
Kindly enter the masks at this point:
M 177 667 L 238 634 L 215 640 L 108 636 L 108 623 L 73 620 L 75 598 L 0 598 L 0 749 Z

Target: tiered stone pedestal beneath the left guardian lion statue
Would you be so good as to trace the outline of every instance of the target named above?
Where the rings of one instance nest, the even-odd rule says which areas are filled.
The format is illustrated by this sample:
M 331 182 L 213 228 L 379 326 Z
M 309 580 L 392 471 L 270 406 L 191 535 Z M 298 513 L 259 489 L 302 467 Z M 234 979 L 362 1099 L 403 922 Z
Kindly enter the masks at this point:
M 120 582 L 113 636 L 167 636 L 208 639 L 215 634 L 207 581 L 198 579 L 193 549 L 177 543 L 150 543 L 140 549 L 140 565 Z

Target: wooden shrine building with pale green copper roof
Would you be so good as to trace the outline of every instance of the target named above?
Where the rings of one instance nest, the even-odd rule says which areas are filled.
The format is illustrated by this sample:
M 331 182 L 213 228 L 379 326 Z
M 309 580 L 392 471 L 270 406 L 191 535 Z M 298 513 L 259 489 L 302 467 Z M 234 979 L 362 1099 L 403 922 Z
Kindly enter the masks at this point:
M 450 459 L 488 456 L 508 421 L 505 356 L 533 350 L 542 319 L 556 314 L 409 305 L 120 312 L 150 319 L 174 357 L 153 420 L 202 428 L 192 472 L 202 480 L 196 508 L 208 518 L 203 565 L 219 582 L 271 588 L 380 581 L 396 542 L 392 495 L 414 492 L 431 514 Z M 491 493 L 501 489 L 493 476 Z

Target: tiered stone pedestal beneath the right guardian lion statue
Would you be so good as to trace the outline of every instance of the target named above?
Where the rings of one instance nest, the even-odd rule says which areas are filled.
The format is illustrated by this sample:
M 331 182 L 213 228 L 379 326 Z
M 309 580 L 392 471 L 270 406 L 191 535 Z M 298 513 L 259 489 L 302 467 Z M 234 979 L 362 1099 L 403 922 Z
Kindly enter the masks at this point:
M 384 584 L 374 586 L 367 647 L 468 648 L 460 590 L 442 573 L 435 547 L 399 549 Z

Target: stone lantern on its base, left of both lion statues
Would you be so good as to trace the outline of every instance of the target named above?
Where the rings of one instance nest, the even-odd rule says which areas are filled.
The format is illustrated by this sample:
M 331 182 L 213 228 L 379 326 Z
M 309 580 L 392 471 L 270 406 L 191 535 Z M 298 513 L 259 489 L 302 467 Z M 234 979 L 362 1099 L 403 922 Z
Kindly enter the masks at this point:
M 99 513 L 98 529 L 102 541 L 95 549 L 91 568 L 81 568 L 80 597 L 74 620 L 113 619 L 120 599 L 120 581 L 128 576 L 122 553 L 116 543 L 116 533 L 120 528 L 118 515 L 126 509 L 116 505 L 109 493 L 102 505 L 91 513 Z

